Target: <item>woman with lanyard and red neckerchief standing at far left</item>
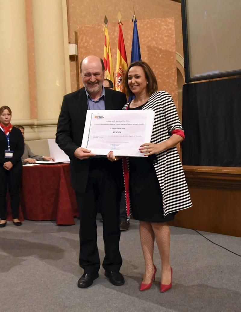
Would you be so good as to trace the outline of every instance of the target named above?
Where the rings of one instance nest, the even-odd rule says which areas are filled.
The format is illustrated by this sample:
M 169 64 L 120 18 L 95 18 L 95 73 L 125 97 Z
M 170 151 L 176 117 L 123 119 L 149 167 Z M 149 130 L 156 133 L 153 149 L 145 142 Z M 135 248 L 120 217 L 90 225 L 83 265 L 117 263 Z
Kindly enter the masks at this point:
M 11 197 L 13 224 L 22 225 L 18 219 L 18 213 L 24 141 L 21 131 L 11 125 L 11 118 L 11 109 L 8 106 L 2 106 L 0 108 L 0 228 L 7 224 L 6 195 L 8 190 Z

